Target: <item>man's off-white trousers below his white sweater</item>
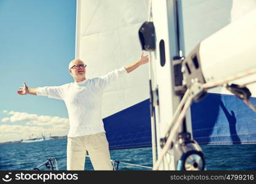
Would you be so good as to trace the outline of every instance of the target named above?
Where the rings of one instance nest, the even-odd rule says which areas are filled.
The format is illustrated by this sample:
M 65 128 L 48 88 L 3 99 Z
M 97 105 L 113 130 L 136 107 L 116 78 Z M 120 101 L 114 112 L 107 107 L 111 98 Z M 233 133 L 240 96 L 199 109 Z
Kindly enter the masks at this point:
M 67 170 L 83 171 L 87 151 L 94 170 L 112 170 L 109 143 L 105 132 L 88 136 L 68 137 Z

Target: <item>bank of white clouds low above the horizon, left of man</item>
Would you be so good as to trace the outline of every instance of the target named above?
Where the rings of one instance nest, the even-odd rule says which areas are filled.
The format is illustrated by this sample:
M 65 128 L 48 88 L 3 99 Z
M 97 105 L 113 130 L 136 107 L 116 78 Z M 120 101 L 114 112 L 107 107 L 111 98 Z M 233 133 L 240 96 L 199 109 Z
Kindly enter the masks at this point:
M 49 136 L 49 134 L 52 136 L 66 136 L 68 134 L 68 118 L 14 111 L 10 111 L 7 115 L 11 116 L 1 120 L 3 123 L 8 122 L 8 125 L 0 125 L 0 142 L 28 139 L 31 134 L 36 136 L 41 136 L 41 134 L 45 136 Z M 12 125 L 15 122 L 21 125 Z

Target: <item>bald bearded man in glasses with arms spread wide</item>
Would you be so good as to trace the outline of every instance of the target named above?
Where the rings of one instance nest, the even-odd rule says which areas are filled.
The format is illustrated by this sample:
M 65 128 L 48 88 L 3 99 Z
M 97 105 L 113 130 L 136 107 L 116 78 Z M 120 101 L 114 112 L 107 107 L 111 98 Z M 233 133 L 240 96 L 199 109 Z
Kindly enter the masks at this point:
M 148 56 L 143 56 L 142 52 L 139 60 L 130 66 L 87 79 L 87 65 L 80 59 L 74 59 L 69 63 L 69 73 L 74 82 L 40 88 L 28 88 L 24 83 L 20 88 L 18 94 L 47 96 L 65 102 L 69 114 L 67 170 L 84 170 L 87 151 L 95 170 L 112 170 L 109 143 L 101 118 L 103 91 L 115 79 L 148 62 Z

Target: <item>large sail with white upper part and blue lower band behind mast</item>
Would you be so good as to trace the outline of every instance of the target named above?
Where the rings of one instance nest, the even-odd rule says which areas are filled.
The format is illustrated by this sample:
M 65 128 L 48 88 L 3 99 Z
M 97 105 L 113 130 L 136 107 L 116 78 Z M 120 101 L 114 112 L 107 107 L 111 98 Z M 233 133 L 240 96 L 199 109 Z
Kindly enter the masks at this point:
M 182 1 L 184 30 L 180 31 L 184 31 L 186 53 L 238 18 L 230 10 L 241 6 L 232 3 Z M 147 0 L 77 0 L 76 58 L 87 63 L 88 78 L 138 60 L 138 31 L 147 21 L 147 8 Z M 111 149 L 151 146 L 147 67 L 118 79 L 104 92 L 102 113 Z M 254 91 L 256 88 L 251 91 L 251 101 L 256 105 Z M 200 144 L 256 143 L 256 113 L 227 91 L 209 92 L 203 101 L 192 105 L 195 140 Z

